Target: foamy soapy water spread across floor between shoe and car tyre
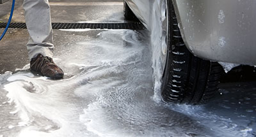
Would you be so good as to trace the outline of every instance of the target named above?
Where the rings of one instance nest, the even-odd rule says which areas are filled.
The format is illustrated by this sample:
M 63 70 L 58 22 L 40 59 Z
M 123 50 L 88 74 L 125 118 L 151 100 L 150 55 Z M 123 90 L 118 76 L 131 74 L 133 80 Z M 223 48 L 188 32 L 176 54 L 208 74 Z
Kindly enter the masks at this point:
M 156 98 L 148 41 L 147 31 L 102 31 L 57 55 L 63 80 L 34 75 L 28 65 L 0 75 L 0 136 L 255 135 L 253 108 L 233 120 L 244 113 L 233 114 L 221 97 L 207 106 Z

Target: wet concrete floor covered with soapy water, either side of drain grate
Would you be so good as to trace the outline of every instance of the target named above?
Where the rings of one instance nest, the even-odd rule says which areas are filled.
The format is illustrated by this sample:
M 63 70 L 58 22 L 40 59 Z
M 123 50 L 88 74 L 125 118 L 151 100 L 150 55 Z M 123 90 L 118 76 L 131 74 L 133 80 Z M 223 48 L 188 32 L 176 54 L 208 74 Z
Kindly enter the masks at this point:
M 53 22 L 125 22 L 122 1 L 50 2 Z M 0 42 L 0 136 L 256 136 L 256 82 L 221 83 L 207 105 L 153 98 L 147 30 L 54 30 L 57 81 L 29 72 L 27 40 L 10 29 Z

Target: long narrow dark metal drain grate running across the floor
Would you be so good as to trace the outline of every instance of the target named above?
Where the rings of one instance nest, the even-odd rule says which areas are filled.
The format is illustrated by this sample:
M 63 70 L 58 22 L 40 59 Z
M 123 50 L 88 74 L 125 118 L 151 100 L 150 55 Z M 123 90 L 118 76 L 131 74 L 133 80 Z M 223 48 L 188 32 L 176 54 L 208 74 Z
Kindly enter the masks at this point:
M 5 28 L 7 23 L 0 23 L 0 28 Z M 25 23 L 11 23 L 9 28 L 26 29 Z M 52 29 L 145 29 L 140 22 L 132 23 L 52 23 Z

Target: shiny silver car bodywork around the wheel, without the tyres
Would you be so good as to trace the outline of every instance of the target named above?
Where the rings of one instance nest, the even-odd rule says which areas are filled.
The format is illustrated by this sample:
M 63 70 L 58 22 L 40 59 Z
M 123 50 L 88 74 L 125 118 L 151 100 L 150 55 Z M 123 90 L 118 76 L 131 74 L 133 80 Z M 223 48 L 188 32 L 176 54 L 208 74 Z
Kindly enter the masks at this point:
M 150 31 L 161 1 L 126 0 Z M 256 65 L 255 0 L 173 0 L 173 4 L 191 53 L 210 61 Z

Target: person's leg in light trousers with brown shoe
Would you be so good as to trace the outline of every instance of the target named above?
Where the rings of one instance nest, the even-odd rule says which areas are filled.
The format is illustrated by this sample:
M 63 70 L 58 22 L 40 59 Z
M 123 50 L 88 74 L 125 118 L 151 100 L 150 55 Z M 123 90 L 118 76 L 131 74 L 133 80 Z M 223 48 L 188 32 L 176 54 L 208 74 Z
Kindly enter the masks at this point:
M 42 76 L 63 78 L 63 71 L 52 61 L 52 25 L 48 0 L 24 0 L 30 69 Z

